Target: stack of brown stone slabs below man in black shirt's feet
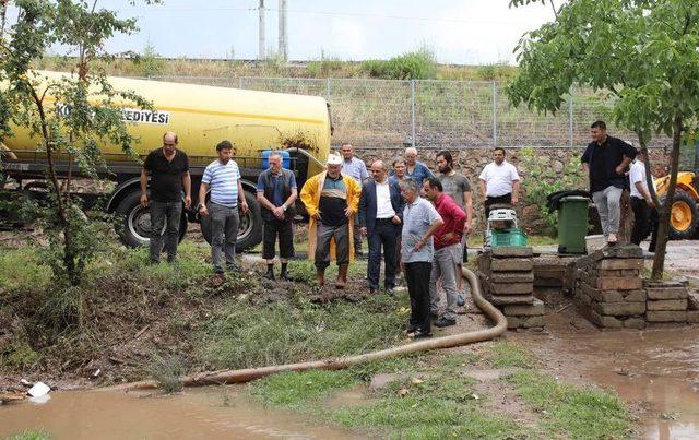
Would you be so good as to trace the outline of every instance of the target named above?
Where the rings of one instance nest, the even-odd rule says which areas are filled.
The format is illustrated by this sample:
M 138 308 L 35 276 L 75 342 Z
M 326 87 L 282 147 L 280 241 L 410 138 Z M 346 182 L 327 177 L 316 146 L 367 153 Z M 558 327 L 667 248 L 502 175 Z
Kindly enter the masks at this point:
M 644 329 L 647 294 L 637 246 L 605 248 L 576 262 L 574 301 L 602 329 Z

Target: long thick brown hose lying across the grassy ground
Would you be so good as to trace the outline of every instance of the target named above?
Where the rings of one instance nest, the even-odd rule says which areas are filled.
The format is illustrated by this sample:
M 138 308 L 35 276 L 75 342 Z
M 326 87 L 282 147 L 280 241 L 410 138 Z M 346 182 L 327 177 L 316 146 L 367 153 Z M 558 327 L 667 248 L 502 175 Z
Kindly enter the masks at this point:
M 488 318 L 495 321 L 495 326 L 484 330 L 476 330 L 466 333 L 460 333 L 449 336 L 435 337 L 413 342 L 398 347 L 381 349 L 378 352 L 366 353 L 364 355 L 347 356 L 332 359 L 311 360 L 308 362 L 276 365 L 260 368 L 246 368 L 241 370 L 220 370 L 202 372 L 193 376 L 180 378 L 185 387 L 201 387 L 211 384 L 241 383 L 260 379 L 265 376 L 274 374 L 283 371 L 304 371 L 304 370 L 341 370 L 358 364 L 369 362 L 371 360 L 386 359 L 407 353 L 426 352 L 436 348 L 449 348 L 459 345 L 472 344 L 474 342 L 483 342 L 493 340 L 501 335 L 507 330 L 507 320 L 502 312 L 496 309 L 481 294 L 481 285 L 477 276 L 470 270 L 463 267 L 463 277 L 471 284 L 471 293 L 474 302 Z M 129 391 L 129 390 L 146 390 L 157 388 L 154 380 L 143 380 L 140 382 L 123 383 L 114 387 L 103 388 L 105 391 Z

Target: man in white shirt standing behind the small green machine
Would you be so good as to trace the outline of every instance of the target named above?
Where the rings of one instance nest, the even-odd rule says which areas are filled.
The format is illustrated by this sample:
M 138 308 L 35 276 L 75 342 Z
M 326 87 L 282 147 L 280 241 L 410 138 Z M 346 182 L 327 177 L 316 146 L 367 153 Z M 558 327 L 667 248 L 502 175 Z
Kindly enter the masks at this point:
M 493 151 L 493 162 L 481 173 L 481 193 L 485 200 L 485 217 L 490 206 L 498 203 L 516 205 L 519 202 L 520 175 L 514 165 L 505 159 L 505 148 Z

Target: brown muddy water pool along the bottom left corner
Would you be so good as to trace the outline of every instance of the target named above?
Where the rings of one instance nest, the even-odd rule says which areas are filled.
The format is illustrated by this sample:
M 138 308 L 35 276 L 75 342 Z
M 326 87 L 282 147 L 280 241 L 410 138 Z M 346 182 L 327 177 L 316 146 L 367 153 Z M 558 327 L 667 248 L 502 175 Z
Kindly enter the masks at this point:
M 0 406 L 0 438 L 29 429 L 43 429 L 52 439 L 358 438 L 297 415 L 265 409 L 230 387 L 169 396 L 64 392 L 52 393 L 42 405 Z

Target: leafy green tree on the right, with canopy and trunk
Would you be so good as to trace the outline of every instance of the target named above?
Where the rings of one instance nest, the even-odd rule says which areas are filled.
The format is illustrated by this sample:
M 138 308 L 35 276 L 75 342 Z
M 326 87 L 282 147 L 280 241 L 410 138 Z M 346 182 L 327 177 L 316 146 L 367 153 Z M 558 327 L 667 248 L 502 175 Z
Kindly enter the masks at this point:
M 510 7 L 536 3 L 511 0 Z M 544 1 L 542 1 L 543 3 Z M 671 179 L 660 209 L 651 277 L 662 277 L 670 211 L 683 133 L 699 111 L 699 8 L 694 0 L 570 0 L 556 20 L 525 34 L 516 48 L 519 74 L 508 86 L 514 104 L 543 112 L 560 109 L 571 86 L 606 91 L 615 122 L 638 135 L 651 181 L 648 144 L 672 139 Z

